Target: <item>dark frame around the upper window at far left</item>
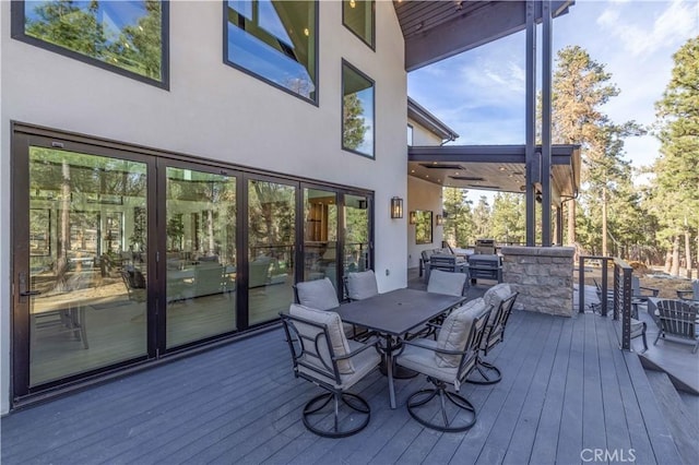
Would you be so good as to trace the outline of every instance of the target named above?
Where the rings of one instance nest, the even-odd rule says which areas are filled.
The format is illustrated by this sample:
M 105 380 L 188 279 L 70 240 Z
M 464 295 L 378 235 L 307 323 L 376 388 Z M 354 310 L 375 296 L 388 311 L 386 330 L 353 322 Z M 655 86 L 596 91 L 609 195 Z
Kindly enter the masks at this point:
M 170 88 L 170 72 L 169 72 L 169 1 L 168 0 L 159 0 L 161 3 L 161 80 L 154 80 L 152 78 L 147 78 L 143 74 L 135 73 L 133 71 L 129 71 L 123 68 L 116 67 L 114 64 L 109 64 L 106 61 L 99 60 L 97 58 L 90 57 L 87 55 L 81 53 L 75 50 L 71 50 L 70 48 L 62 47 L 60 45 L 51 44 L 49 41 L 43 40 L 38 37 L 31 36 L 26 34 L 24 29 L 24 24 L 26 20 L 25 15 L 25 1 L 16 0 L 12 1 L 11 10 L 10 10 L 10 34 L 13 39 L 23 41 L 25 44 L 42 48 L 44 50 L 51 51 L 54 53 L 62 55 L 63 57 L 72 58 L 74 60 L 81 61 L 86 64 L 91 64 L 93 67 L 100 68 L 106 71 L 111 71 L 112 73 L 122 75 L 125 78 L 130 78 L 135 81 L 142 82 L 144 84 L 150 84 L 155 87 L 163 88 L 164 91 L 169 91 Z

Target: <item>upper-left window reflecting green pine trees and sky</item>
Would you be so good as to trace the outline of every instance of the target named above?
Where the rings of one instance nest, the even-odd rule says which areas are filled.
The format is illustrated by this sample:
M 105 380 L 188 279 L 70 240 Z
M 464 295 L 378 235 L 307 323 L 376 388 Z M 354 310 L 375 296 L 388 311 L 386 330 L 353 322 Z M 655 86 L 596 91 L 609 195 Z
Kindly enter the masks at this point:
M 12 36 L 167 86 L 167 2 L 12 2 Z

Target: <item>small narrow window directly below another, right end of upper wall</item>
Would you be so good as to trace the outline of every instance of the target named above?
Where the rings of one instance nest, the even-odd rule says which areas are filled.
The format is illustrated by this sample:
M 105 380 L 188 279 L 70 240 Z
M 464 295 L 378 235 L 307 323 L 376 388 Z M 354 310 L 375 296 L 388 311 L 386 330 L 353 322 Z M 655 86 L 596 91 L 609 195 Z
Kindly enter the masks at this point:
M 342 63 L 342 148 L 374 158 L 374 81 Z

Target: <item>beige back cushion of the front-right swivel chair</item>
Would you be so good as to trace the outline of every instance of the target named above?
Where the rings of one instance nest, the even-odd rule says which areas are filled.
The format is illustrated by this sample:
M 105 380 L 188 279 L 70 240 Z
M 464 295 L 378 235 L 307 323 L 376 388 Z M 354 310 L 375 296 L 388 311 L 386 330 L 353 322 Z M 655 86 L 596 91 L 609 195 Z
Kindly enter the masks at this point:
M 488 306 L 482 298 L 471 300 L 451 312 L 445 320 L 437 336 L 437 347 L 443 350 L 464 350 L 473 320 Z M 435 353 L 438 367 L 458 367 L 461 355 Z

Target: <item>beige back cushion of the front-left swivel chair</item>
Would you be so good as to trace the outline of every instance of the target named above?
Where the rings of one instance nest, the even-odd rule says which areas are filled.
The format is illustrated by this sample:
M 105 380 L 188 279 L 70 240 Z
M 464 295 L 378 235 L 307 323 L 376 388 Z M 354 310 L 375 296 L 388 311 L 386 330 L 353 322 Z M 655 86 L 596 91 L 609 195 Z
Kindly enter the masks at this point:
M 328 334 L 330 337 L 330 345 L 332 347 L 335 356 L 343 356 L 350 354 L 350 343 L 345 337 L 345 333 L 342 326 L 342 319 L 334 311 L 324 311 L 324 310 L 316 310 L 308 307 L 299 306 L 296 303 L 292 303 L 288 312 L 298 318 L 303 318 L 305 320 L 310 320 L 313 323 L 324 324 L 328 327 Z M 301 327 L 297 327 L 299 333 L 305 336 L 310 336 L 315 338 L 318 333 L 318 330 L 310 325 L 298 325 Z M 320 357 L 325 361 L 329 367 L 332 367 L 332 360 L 330 358 L 330 354 L 323 344 L 319 346 Z M 327 369 L 320 360 L 316 360 L 312 357 L 307 359 L 309 363 L 316 365 L 319 368 Z M 337 370 L 342 374 L 351 374 L 354 373 L 354 366 L 352 365 L 352 360 L 337 360 Z

